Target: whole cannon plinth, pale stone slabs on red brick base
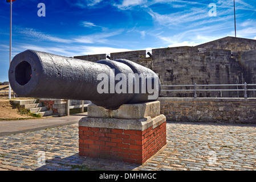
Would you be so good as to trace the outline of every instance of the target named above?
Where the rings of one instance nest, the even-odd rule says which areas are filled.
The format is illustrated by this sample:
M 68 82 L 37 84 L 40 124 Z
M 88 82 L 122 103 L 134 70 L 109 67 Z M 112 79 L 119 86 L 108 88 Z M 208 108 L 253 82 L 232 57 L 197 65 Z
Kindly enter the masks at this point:
M 91 104 L 79 121 L 79 155 L 143 164 L 166 144 L 160 102 L 107 110 Z

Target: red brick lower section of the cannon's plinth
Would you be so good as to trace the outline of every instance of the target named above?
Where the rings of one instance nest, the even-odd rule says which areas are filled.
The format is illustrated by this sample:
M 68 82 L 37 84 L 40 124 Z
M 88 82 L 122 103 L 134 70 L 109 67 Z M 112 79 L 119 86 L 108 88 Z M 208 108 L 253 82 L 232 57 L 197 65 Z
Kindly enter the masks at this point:
M 144 131 L 79 126 L 79 155 L 143 164 L 166 144 L 166 122 Z

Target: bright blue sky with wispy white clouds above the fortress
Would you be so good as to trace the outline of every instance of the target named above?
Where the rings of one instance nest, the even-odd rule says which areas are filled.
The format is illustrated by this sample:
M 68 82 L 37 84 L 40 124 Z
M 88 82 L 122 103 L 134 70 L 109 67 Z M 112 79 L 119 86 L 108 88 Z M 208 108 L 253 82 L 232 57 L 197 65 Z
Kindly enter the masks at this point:
M 38 16 L 38 4 L 46 16 Z M 209 16 L 210 3 L 217 6 Z M 256 39 L 256 1 L 235 0 L 237 36 Z M 0 82 L 8 81 L 10 3 L 0 1 Z M 233 0 L 17 0 L 13 53 L 26 49 L 63 56 L 196 46 L 234 36 Z

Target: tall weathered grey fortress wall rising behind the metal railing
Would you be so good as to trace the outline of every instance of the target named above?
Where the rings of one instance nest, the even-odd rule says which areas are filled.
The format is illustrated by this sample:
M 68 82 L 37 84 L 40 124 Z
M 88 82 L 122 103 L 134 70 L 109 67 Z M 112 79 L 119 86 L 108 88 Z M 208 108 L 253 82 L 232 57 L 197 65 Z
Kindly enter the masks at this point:
M 226 37 L 195 47 L 172 47 L 111 53 L 110 59 L 128 59 L 159 74 L 162 85 L 255 84 L 256 40 Z M 98 61 L 106 54 L 74 56 Z M 250 87 L 253 88 L 253 87 Z M 172 89 L 172 88 L 168 88 Z M 175 88 L 185 89 L 185 88 Z M 186 88 L 193 89 L 193 88 Z M 213 89 L 210 86 L 200 89 Z M 214 87 L 214 89 L 237 89 Z M 242 86 L 239 89 L 243 89 Z M 248 92 L 248 97 L 255 97 Z M 161 97 L 194 97 L 193 92 L 162 92 Z M 197 92 L 197 97 L 243 97 L 243 92 Z

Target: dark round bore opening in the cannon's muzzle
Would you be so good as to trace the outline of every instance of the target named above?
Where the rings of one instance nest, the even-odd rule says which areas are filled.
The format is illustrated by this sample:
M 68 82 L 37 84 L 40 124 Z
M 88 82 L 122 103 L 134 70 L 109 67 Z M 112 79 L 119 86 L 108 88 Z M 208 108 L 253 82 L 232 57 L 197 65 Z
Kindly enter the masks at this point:
M 20 85 L 26 85 L 32 76 L 31 65 L 27 61 L 22 61 L 15 68 L 15 80 Z

